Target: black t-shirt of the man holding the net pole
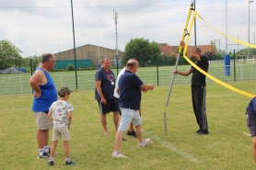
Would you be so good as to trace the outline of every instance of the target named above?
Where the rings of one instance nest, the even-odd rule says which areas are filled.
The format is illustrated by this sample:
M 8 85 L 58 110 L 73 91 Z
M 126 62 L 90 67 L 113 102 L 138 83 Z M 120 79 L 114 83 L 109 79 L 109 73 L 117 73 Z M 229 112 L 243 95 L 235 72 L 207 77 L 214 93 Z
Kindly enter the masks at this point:
M 207 57 L 204 55 L 201 55 L 200 58 L 201 58 L 201 61 L 195 61 L 194 63 L 199 68 L 204 70 L 204 72 L 208 72 L 209 63 L 208 63 Z M 199 72 L 198 70 L 192 67 L 192 86 L 198 86 L 198 85 L 203 85 L 203 86 L 206 85 L 205 75 L 201 74 L 201 72 Z

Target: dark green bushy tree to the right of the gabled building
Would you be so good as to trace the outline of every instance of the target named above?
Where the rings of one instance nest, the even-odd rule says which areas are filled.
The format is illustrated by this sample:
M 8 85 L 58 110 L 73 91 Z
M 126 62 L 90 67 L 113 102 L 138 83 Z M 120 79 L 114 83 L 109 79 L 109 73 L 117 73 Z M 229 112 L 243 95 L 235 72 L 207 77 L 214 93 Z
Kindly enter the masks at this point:
M 127 62 L 130 58 L 135 58 L 141 65 L 146 66 L 146 62 L 157 61 L 157 55 L 160 54 L 159 45 L 154 40 L 132 39 L 124 50 L 123 62 Z

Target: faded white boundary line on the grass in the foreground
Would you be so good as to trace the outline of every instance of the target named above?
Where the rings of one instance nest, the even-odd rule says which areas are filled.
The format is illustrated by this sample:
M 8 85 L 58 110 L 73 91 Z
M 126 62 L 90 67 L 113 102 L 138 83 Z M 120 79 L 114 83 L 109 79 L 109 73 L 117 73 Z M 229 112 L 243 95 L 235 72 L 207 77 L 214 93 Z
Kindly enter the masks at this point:
M 182 151 L 180 151 L 178 148 L 176 148 L 175 146 L 173 146 L 170 142 L 166 142 L 164 140 L 162 140 L 161 138 L 157 137 L 154 134 L 151 134 L 145 130 L 143 130 L 143 133 L 147 136 L 149 136 L 151 139 L 156 140 L 157 142 L 160 142 L 163 146 L 167 147 L 168 149 L 170 149 L 171 151 L 173 151 L 174 153 L 178 153 L 181 156 L 185 157 L 186 159 L 188 159 L 189 161 L 193 162 L 193 163 L 199 163 L 199 161 L 192 157 L 192 155 L 190 155 L 189 153 L 184 153 Z

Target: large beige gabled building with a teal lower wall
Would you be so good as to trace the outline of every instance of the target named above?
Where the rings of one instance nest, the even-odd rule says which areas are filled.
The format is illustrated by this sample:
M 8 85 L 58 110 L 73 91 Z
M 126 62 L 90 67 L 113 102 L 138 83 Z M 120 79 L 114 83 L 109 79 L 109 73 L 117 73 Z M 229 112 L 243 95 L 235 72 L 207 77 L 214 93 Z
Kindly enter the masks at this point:
M 53 54 L 56 58 L 55 68 L 65 68 L 68 64 L 75 65 L 74 49 L 60 51 Z M 118 51 L 119 65 L 122 63 L 124 52 Z M 87 44 L 81 47 L 76 47 L 76 67 L 92 67 L 98 66 L 104 57 L 111 59 L 111 66 L 116 65 L 116 50 L 98 47 Z

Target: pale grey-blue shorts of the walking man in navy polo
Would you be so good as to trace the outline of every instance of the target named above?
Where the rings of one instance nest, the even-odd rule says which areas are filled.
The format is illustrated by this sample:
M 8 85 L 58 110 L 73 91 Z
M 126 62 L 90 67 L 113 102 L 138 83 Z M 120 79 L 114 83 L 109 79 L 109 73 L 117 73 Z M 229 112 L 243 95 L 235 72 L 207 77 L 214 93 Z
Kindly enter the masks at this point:
M 122 111 L 122 118 L 120 120 L 120 124 L 118 130 L 125 131 L 128 126 L 132 122 L 134 126 L 138 126 L 142 124 L 142 119 L 138 110 L 130 109 L 130 108 L 120 108 Z

